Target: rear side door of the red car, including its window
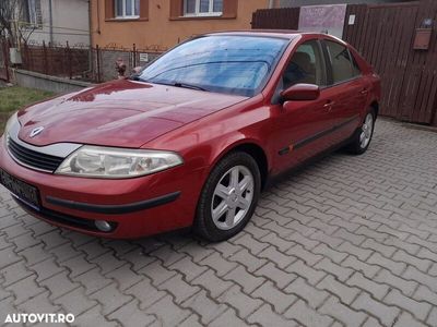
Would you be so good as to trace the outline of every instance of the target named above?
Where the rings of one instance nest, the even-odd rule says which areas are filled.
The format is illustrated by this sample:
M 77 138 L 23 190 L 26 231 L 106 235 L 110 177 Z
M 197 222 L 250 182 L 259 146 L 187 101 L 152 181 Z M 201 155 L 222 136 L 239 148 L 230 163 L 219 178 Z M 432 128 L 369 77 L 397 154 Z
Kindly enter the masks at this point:
M 333 142 L 352 135 L 367 102 L 368 87 L 351 51 L 334 40 L 322 40 L 328 64 L 328 88 L 334 101 L 331 114 L 336 126 Z

